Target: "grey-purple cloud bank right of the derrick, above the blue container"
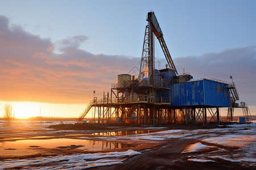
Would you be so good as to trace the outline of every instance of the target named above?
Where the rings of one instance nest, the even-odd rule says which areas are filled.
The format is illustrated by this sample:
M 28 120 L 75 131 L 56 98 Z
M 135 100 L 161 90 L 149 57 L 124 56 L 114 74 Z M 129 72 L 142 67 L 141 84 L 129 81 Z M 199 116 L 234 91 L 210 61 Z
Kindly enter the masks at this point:
M 256 46 L 243 46 L 201 56 L 177 57 L 174 62 L 179 73 L 183 73 L 185 66 L 185 72 L 190 72 L 193 78 L 231 82 L 229 76 L 232 75 L 240 100 L 256 105 Z

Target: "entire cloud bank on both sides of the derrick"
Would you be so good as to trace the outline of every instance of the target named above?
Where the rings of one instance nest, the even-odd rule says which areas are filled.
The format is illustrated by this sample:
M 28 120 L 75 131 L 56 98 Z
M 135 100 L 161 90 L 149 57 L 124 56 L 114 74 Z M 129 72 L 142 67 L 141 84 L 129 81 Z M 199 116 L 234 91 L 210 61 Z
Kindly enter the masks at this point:
M 0 16 L 0 100 L 88 103 L 93 90 L 98 97 L 110 91 L 118 74 L 133 73 L 132 69 L 138 74 L 140 58 L 96 55 L 79 49 L 89 40 L 78 35 L 51 42 L 17 25 L 10 26 L 9 19 Z M 164 68 L 166 59 L 160 63 Z M 185 66 L 194 78 L 230 81 L 232 75 L 241 101 L 256 105 L 256 46 L 177 57 L 174 63 L 179 73 Z

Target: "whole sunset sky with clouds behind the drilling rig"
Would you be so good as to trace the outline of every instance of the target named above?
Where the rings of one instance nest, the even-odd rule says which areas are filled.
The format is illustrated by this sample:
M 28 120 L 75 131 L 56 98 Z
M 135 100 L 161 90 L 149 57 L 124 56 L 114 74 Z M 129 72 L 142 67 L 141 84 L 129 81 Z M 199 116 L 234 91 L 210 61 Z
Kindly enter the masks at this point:
M 6 103 L 16 117 L 40 116 L 40 108 L 43 116 L 78 117 L 93 90 L 101 98 L 118 74 L 138 71 L 149 10 L 179 73 L 227 82 L 232 75 L 256 115 L 256 1 L 0 4 L 0 117 Z M 163 68 L 159 44 L 155 56 Z

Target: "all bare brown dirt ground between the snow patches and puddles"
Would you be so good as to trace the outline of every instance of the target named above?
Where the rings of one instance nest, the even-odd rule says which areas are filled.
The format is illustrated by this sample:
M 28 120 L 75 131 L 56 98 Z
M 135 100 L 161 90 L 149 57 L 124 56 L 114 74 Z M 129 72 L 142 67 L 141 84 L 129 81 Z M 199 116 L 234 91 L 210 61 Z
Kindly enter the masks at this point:
M 222 124 L 221 128 L 226 128 L 228 123 Z M 160 126 L 163 128 L 163 126 Z M 178 125 L 172 124 L 164 126 L 162 130 L 168 129 L 214 129 L 220 128 L 217 124 L 208 125 Z M 19 130 L 19 133 L 17 131 Z M 104 133 L 108 131 L 129 131 L 132 130 L 145 130 L 145 126 L 133 126 L 133 125 L 122 125 L 122 124 L 60 124 L 48 126 L 48 130 L 42 131 L 41 129 L 30 129 L 30 128 L 13 128 L 7 129 L 5 132 L 1 133 L 0 141 L 15 141 L 17 138 L 22 139 L 53 139 L 53 138 L 72 138 L 76 139 L 77 134 L 73 134 L 72 130 L 88 130 L 88 133 L 82 133 L 79 137 L 92 137 L 93 133 Z M 57 131 L 56 131 L 57 130 Z M 161 130 L 161 129 L 160 129 Z M 20 131 L 22 133 L 20 133 Z M 32 131 L 33 133 L 26 133 Z M 40 131 L 40 133 L 39 133 Z M 54 134 L 51 133 L 55 132 Z M 59 132 L 58 132 L 59 131 Z M 152 127 L 151 131 L 159 131 L 159 127 Z M 97 137 L 97 135 L 94 135 Z M 111 137 L 110 137 L 111 138 Z M 97 140 L 97 139 L 96 139 Z M 118 141 L 122 143 L 138 144 L 137 141 Z M 115 164 L 110 166 L 98 167 L 93 169 L 256 169 L 256 167 L 246 167 L 238 162 L 229 162 L 225 160 L 215 160 L 215 162 L 189 162 L 187 161 L 188 155 L 193 156 L 193 153 L 185 154 L 181 153 L 186 147 L 191 145 L 191 143 L 197 142 L 195 139 L 171 139 L 166 141 L 160 141 L 158 143 L 144 142 L 141 145 L 134 145 L 131 149 L 139 151 L 142 154 L 137 156 L 131 156 L 127 158 L 121 164 Z M 208 143 L 209 145 L 209 143 Z M 10 160 L 10 159 L 24 159 L 24 158 L 36 158 L 42 156 L 55 156 L 55 155 L 70 155 L 70 154 L 80 154 L 80 153 L 93 153 L 97 151 L 85 151 L 80 150 L 81 146 L 71 145 L 71 146 L 60 146 L 55 148 L 39 148 L 38 146 L 31 146 L 31 150 L 36 150 L 32 155 L 13 155 L 5 156 L 1 155 L 0 160 Z M 11 149 L 11 148 L 10 148 Z M 119 148 L 117 151 L 125 151 L 129 148 Z M 236 154 L 236 147 L 225 147 L 228 154 Z M 100 152 L 109 152 L 110 150 L 104 150 Z M 111 150 L 115 151 L 115 150 Z M 212 149 L 214 151 L 214 148 Z M 194 153 L 195 155 L 204 154 L 209 152 L 208 150 L 200 151 Z

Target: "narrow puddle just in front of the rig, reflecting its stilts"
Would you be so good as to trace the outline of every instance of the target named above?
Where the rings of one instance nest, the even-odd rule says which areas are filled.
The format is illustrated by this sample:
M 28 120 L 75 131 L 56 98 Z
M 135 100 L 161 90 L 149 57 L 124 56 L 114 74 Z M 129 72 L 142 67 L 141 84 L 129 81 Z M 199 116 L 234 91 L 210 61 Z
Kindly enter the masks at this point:
M 113 137 L 113 136 L 124 136 L 124 135 L 152 133 L 154 131 L 156 131 L 156 130 L 107 131 L 107 132 L 92 133 L 91 135 L 101 135 L 101 136 L 106 136 L 106 137 Z

